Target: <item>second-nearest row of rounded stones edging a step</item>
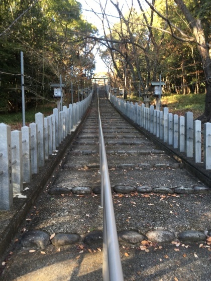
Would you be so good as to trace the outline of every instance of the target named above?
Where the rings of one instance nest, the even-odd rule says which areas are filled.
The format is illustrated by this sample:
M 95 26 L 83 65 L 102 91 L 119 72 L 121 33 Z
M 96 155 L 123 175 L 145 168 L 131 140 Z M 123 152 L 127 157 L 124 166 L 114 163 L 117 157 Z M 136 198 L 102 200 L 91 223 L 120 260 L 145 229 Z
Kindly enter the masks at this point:
M 172 196 L 177 196 L 177 195 L 188 195 L 188 194 L 210 194 L 211 189 L 208 187 L 203 187 L 203 186 L 192 186 L 192 187 L 175 187 L 175 188 L 170 188 L 170 187 L 150 187 L 150 186 L 115 186 L 112 188 L 112 191 L 116 192 L 117 194 L 130 194 L 137 192 L 139 194 L 146 194 L 146 193 L 159 193 L 159 194 L 170 194 Z M 77 195 L 85 195 L 85 194 L 100 194 L 100 187 L 71 187 L 71 188 L 66 188 L 66 187 L 58 187 L 58 186 L 52 186 L 48 194 L 49 195 L 65 195 L 65 194 L 77 194 Z

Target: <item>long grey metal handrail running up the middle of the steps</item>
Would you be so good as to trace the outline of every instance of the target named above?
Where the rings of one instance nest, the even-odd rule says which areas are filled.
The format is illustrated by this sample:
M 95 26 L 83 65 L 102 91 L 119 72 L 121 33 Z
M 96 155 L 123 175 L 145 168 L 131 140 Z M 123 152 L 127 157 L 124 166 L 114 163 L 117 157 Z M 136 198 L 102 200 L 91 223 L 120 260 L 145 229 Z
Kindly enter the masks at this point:
M 101 119 L 98 101 L 99 122 L 99 156 L 101 175 L 101 207 L 103 207 L 103 250 L 102 250 L 102 278 L 103 281 L 123 281 L 123 269 L 120 257 L 120 248 L 117 235 L 114 205 L 112 200 L 111 184 L 107 156 L 105 152 Z

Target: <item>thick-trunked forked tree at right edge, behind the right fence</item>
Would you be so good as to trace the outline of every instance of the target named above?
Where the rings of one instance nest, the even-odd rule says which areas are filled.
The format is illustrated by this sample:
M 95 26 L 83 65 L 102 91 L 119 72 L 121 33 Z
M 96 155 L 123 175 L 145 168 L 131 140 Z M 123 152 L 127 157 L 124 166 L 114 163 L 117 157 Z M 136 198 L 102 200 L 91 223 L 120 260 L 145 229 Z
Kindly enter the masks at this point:
M 190 8 L 185 5 L 183 0 L 174 0 L 177 7 L 179 8 L 181 15 L 186 21 L 191 34 L 185 33 L 178 26 L 175 26 L 168 17 L 162 15 L 151 3 L 147 0 L 145 2 L 150 6 L 150 8 L 159 15 L 164 21 L 167 22 L 170 28 L 170 34 L 176 40 L 181 42 L 189 42 L 197 45 L 198 53 L 201 57 L 201 64 L 204 72 L 204 80 L 206 86 L 206 96 L 205 96 L 205 108 L 204 113 L 198 117 L 202 122 L 207 122 L 211 120 L 211 58 L 210 58 L 210 48 L 211 44 L 209 44 L 208 38 L 208 29 L 210 28 L 210 9 L 208 8 L 207 3 L 203 0 L 199 1 L 199 10 L 193 10 L 191 13 Z M 195 1 L 186 1 L 186 3 L 190 4 L 190 7 L 195 4 Z M 202 11 L 206 11 L 203 15 Z M 208 12 L 209 11 L 209 12 Z M 209 13 L 209 16 L 208 16 Z M 195 16 L 195 17 L 194 17 Z M 211 42 L 210 42 L 211 43 Z

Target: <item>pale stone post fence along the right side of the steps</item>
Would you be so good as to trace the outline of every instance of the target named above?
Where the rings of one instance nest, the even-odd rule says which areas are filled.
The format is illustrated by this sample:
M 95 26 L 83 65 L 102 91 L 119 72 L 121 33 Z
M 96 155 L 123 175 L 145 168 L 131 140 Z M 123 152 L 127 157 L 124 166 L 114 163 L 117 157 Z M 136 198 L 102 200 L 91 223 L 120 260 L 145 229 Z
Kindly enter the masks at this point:
M 154 109 L 153 105 L 147 108 L 144 103 L 141 106 L 138 103 L 126 103 L 111 93 L 109 99 L 128 118 L 174 149 L 184 152 L 186 157 L 193 158 L 195 163 L 201 163 L 203 146 L 204 169 L 211 169 L 211 123 L 205 123 L 201 132 L 201 121 L 193 121 L 192 112 L 179 117 L 177 114 L 169 113 L 167 107 L 160 111 Z

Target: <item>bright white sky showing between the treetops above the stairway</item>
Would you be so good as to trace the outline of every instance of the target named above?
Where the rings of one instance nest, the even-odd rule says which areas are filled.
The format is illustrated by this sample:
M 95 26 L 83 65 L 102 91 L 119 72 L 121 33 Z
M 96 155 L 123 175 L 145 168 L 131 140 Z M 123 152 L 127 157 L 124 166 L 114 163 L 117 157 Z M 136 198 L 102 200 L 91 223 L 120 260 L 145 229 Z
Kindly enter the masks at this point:
M 99 34 L 103 35 L 102 32 L 102 27 L 101 27 L 101 21 L 100 19 L 97 18 L 97 16 L 91 11 L 92 9 L 94 10 L 95 13 L 101 13 L 100 10 L 100 6 L 98 4 L 99 0 L 78 0 L 78 2 L 81 3 L 82 5 L 82 13 L 83 13 L 83 17 L 85 20 L 87 20 L 89 23 L 92 23 L 94 26 L 97 27 Z M 113 2 L 116 4 L 117 1 L 113 0 Z M 132 6 L 132 2 L 133 5 L 135 5 L 135 7 L 137 8 L 137 10 L 139 9 L 138 7 L 138 3 L 136 0 L 122 0 L 119 1 L 119 7 L 122 9 L 123 14 L 126 14 L 127 11 L 129 11 L 129 8 Z M 101 0 L 101 5 L 105 6 L 105 4 L 107 3 L 106 6 L 106 13 L 108 15 L 108 18 L 111 22 L 116 23 L 119 21 L 119 14 L 117 12 L 117 9 L 114 7 L 114 5 L 111 3 L 110 0 L 106 1 L 106 0 Z M 99 15 L 100 17 L 100 15 Z M 100 58 L 96 55 L 95 57 L 96 60 L 96 69 L 95 69 L 95 73 L 97 72 L 107 72 L 107 68 L 105 68 L 104 63 L 100 60 Z

